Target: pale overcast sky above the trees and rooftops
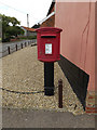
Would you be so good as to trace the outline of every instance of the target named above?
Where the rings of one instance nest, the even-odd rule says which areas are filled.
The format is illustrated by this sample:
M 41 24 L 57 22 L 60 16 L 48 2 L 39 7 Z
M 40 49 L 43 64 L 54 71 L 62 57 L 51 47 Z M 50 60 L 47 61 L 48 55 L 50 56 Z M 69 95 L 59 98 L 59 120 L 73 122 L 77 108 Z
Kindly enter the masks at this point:
M 0 0 L 0 13 L 14 16 L 20 22 L 20 26 L 27 26 L 29 14 L 29 27 L 46 17 L 52 0 Z

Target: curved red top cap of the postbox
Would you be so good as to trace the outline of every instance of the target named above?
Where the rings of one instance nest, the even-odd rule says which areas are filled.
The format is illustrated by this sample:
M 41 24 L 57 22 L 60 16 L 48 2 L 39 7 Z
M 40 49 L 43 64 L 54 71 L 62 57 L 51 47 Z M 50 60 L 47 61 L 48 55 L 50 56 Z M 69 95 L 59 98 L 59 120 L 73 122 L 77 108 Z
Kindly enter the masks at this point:
M 41 32 L 41 31 L 55 31 L 55 32 L 60 32 L 63 29 L 57 28 L 57 27 L 41 27 L 36 29 L 36 31 Z

